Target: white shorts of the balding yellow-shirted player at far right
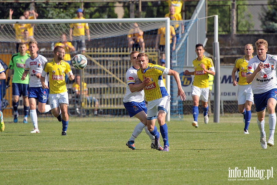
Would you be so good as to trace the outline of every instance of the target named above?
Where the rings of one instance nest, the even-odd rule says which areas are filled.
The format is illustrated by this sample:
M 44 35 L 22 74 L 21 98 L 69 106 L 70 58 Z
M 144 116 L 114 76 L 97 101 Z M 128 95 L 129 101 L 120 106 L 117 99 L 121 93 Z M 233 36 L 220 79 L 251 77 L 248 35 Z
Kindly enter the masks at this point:
M 238 105 L 245 104 L 246 101 L 251 101 L 254 103 L 253 92 L 251 89 L 251 84 L 239 85 L 238 89 Z

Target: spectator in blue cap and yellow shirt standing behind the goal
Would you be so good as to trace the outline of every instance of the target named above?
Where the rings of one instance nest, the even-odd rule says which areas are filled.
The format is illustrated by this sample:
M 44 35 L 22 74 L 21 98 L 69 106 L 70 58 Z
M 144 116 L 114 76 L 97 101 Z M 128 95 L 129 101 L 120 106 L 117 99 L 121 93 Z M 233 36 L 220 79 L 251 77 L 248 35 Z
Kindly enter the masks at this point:
M 77 17 L 73 19 L 85 19 L 83 17 L 83 10 L 79 8 L 77 11 Z M 76 51 L 79 50 L 82 51 L 82 53 L 85 53 L 86 51 L 86 43 L 85 43 L 85 31 L 86 35 L 88 37 L 88 41 L 90 41 L 90 30 L 88 23 L 72 23 L 69 25 L 69 39 L 72 41 L 72 34 L 77 39 L 74 41 L 73 45 L 76 49 Z

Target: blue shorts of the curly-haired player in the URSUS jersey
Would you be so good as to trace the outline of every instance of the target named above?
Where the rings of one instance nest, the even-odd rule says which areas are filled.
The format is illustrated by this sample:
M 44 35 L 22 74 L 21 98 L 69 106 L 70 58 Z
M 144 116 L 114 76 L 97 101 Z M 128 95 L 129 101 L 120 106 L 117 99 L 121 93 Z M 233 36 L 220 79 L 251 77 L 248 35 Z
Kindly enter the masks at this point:
M 271 89 L 262 94 L 254 94 L 256 112 L 260 112 L 267 107 L 267 100 L 269 98 L 274 98 L 275 100 L 277 100 L 277 88 Z

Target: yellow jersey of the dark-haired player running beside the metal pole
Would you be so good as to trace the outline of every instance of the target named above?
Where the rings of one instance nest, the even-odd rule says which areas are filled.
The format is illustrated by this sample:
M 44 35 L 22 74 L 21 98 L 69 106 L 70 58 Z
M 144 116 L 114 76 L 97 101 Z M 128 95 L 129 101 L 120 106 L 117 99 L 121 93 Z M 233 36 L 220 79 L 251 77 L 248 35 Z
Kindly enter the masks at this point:
M 200 61 L 198 61 L 197 58 L 193 60 L 192 64 L 194 67 L 194 79 L 192 85 L 199 88 L 207 88 L 209 87 L 209 76 L 208 73 L 206 73 L 203 68 L 200 67 L 200 64 L 202 63 L 205 65 L 206 69 L 214 67 L 213 60 L 206 56 L 203 56 Z

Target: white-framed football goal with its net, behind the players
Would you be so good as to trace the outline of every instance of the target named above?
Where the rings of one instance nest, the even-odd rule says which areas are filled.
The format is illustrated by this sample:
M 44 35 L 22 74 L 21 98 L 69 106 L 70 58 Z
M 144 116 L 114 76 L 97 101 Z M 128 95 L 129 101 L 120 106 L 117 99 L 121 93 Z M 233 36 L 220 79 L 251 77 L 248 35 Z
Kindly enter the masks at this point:
M 139 44 L 128 47 L 127 36 L 133 34 L 134 23 L 143 31 L 145 52 L 149 56 L 149 62 L 160 64 L 165 56 L 165 65 L 179 74 L 183 72 L 185 63 L 185 50 L 190 27 L 195 20 L 171 21 L 169 18 L 145 18 L 145 19 L 37 19 L 37 20 L 0 20 L 1 53 L 15 53 L 15 43 L 20 42 L 16 38 L 15 24 L 30 24 L 34 27 L 34 39 L 38 42 L 39 54 L 47 59 L 53 58 L 54 43 L 60 42 L 61 35 L 66 34 L 69 39 L 69 29 L 72 23 L 88 23 L 90 41 L 86 35 L 86 55 L 88 65 L 83 70 L 72 70 L 86 83 L 88 96 L 76 99 L 72 90 L 72 83 L 68 80 L 70 105 L 69 113 L 72 116 L 126 116 L 122 98 L 126 91 L 125 73 L 131 67 L 130 52 L 143 51 Z M 178 35 L 175 50 L 170 47 L 169 26 L 173 25 Z M 176 25 L 178 27 L 176 28 Z M 165 51 L 155 48 L 158 29 L 166 27 Z M 182 30 L 183 29 L 183 30 Z M 72 42 L 77 40 L 72 38 Z M 162 39 L 162 38 L 160 38 Z M 23 39 L 24 40 L 24 39 Z M 71 58 L 80 51 L 70 52 Z M 163 54 L 164 53 L 164 54 Z M 3 60 L 3 59 L 2 59 Z M 8 62 L 10 59 L 6 59 Z M 166 86 L 171 94 L 170 117 L 183 116 L 183 102 L 177 98 L 177 86 L 173 77 L 166 78 Z M 11 96 L 9 93 L 6 96 Z M 10 101 L 11 102 L 11 101 Z M 97 103 L 96 103 L 97 102 Z M 10 103 L 11 105 L 11 103 Z M 12 107 L 10 106 L 10 109 Z

